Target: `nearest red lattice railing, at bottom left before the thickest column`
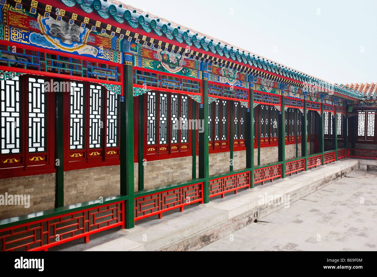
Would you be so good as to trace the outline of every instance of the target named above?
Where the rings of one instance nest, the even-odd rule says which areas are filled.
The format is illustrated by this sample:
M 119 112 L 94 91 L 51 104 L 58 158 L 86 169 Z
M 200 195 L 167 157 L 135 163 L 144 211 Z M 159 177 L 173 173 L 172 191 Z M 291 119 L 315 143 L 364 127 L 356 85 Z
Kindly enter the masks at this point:
M 124 200 L 0 230 L 2 251 L 47 251 L 52 246 L 116 226 L 124 228 Z

